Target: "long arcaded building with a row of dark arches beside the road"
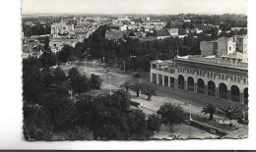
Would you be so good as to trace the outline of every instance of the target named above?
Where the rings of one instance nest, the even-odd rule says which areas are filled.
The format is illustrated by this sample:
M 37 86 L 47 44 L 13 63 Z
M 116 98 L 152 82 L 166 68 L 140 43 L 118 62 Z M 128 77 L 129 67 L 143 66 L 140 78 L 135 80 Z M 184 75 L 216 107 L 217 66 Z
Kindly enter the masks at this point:
M 151 82 L 247 104 L 247 66 L 222 58 L 177 57 L 151 62 Z

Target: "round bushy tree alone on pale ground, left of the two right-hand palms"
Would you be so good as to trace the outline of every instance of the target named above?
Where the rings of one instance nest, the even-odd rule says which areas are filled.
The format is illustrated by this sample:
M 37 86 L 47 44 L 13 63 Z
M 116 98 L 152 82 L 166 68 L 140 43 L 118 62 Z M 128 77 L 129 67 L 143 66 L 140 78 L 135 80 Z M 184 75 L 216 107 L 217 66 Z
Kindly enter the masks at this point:
M 171 103 L 165 103 L 160 106 L 157 114 L 160 115 L 161 124 L 168 125 L 170 131 L 171 127 L 180 125 L 185 120 L 185 114 L 182 108 Z

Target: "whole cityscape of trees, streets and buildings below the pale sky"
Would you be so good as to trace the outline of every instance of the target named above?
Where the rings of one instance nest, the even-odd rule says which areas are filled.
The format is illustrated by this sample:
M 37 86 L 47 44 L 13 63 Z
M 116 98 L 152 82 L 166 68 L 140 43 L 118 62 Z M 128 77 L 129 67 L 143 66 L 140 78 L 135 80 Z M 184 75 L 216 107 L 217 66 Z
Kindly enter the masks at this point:
M 22 29 L 26 140 L 248 137 L 247 15 L 63 10 Z

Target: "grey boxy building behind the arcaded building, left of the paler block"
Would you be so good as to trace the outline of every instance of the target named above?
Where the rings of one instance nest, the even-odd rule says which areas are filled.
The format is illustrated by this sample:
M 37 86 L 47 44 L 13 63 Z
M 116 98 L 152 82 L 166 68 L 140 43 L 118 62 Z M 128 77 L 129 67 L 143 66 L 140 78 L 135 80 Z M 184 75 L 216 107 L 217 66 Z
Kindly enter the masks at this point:
M 202 56 L 216 55 L 218 51 L 218 41 L 201 41 L 200 50 Z

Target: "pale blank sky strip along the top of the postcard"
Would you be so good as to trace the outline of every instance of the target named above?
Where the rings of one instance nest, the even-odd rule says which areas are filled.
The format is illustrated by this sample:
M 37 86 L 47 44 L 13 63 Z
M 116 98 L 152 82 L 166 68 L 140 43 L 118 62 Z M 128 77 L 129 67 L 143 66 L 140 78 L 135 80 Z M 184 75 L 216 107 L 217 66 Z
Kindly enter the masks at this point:
M 22 14 L 244 14 L 247 0 L 22 0 Z

